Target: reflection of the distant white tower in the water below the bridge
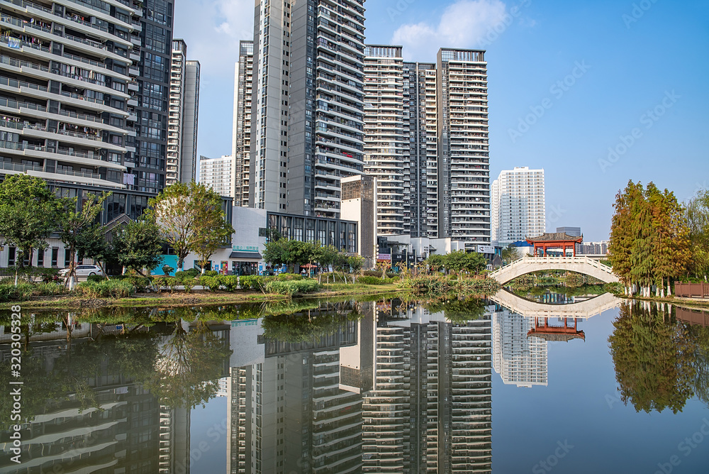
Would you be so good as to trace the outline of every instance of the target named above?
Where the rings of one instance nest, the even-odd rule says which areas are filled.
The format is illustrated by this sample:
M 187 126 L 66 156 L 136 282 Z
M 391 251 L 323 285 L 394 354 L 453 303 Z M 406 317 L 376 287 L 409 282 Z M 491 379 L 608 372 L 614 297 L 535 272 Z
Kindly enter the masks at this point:
M 493 312 L 493 366 L 506 384 L 547 385 L 547 341 L 529 337 L 533 319 L 498 307 Z

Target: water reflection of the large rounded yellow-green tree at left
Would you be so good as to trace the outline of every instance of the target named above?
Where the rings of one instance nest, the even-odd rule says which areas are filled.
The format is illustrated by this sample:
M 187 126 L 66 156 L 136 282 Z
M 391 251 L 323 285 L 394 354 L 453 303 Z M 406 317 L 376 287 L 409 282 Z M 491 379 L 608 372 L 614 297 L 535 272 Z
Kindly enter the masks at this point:
M 197 323 L 194 331 L 177 324 L 160 347 L 145 388 L 169 407 L 203 405 L 216 396 L 223 361 L 231 352 L 206 324 Z

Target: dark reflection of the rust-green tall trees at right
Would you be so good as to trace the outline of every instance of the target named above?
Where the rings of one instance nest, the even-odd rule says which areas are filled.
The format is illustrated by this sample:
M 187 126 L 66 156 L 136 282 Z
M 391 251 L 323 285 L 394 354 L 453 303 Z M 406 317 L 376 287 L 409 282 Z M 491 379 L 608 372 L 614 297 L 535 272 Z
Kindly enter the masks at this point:
M 696 377 L 688 329 L 640 302 L 621 304 L 613 326 L 608 342 L 623 402 L 630 401 L 638 412 L 681 411 Z

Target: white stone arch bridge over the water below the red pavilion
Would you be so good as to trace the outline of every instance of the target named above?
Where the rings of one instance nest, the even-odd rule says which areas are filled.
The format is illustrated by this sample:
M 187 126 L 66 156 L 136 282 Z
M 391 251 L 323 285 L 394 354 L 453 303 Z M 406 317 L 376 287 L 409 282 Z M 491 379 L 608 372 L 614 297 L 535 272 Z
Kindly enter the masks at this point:
M 618 277 L 613 273 L 613 268 L 598 260 L 588 257 L 532 257 L 525 256 L 515 260 L 509 265 L 498 268 L 489 273 L 499 283 L 507 283 L 516 277 L 539 270 L 567 270 L 569 272 L 583 273 L 598 278 L 604 283 L 618 282 Z

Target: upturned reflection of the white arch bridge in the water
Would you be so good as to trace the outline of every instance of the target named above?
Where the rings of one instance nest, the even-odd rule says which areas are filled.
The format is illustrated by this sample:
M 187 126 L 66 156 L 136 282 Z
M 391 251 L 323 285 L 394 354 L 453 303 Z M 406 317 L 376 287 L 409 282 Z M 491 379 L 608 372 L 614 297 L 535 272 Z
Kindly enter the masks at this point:
M 561 317 L 588 319 L 591 316 L 596 316 L 596 314 L 608 311 L 608 309 L 618 307 L 621 302 L 621 299 L 613 296 L 613 294 L 605 293 L 601 294 L 601 296 L 585 299 L 581 302 L 544 304 L 518 297 L 516 294 L 506 290 L 498 291 L 494 296 L 491 296 L 490 299 L 508 308 L 510 312 L 535 318 Z

